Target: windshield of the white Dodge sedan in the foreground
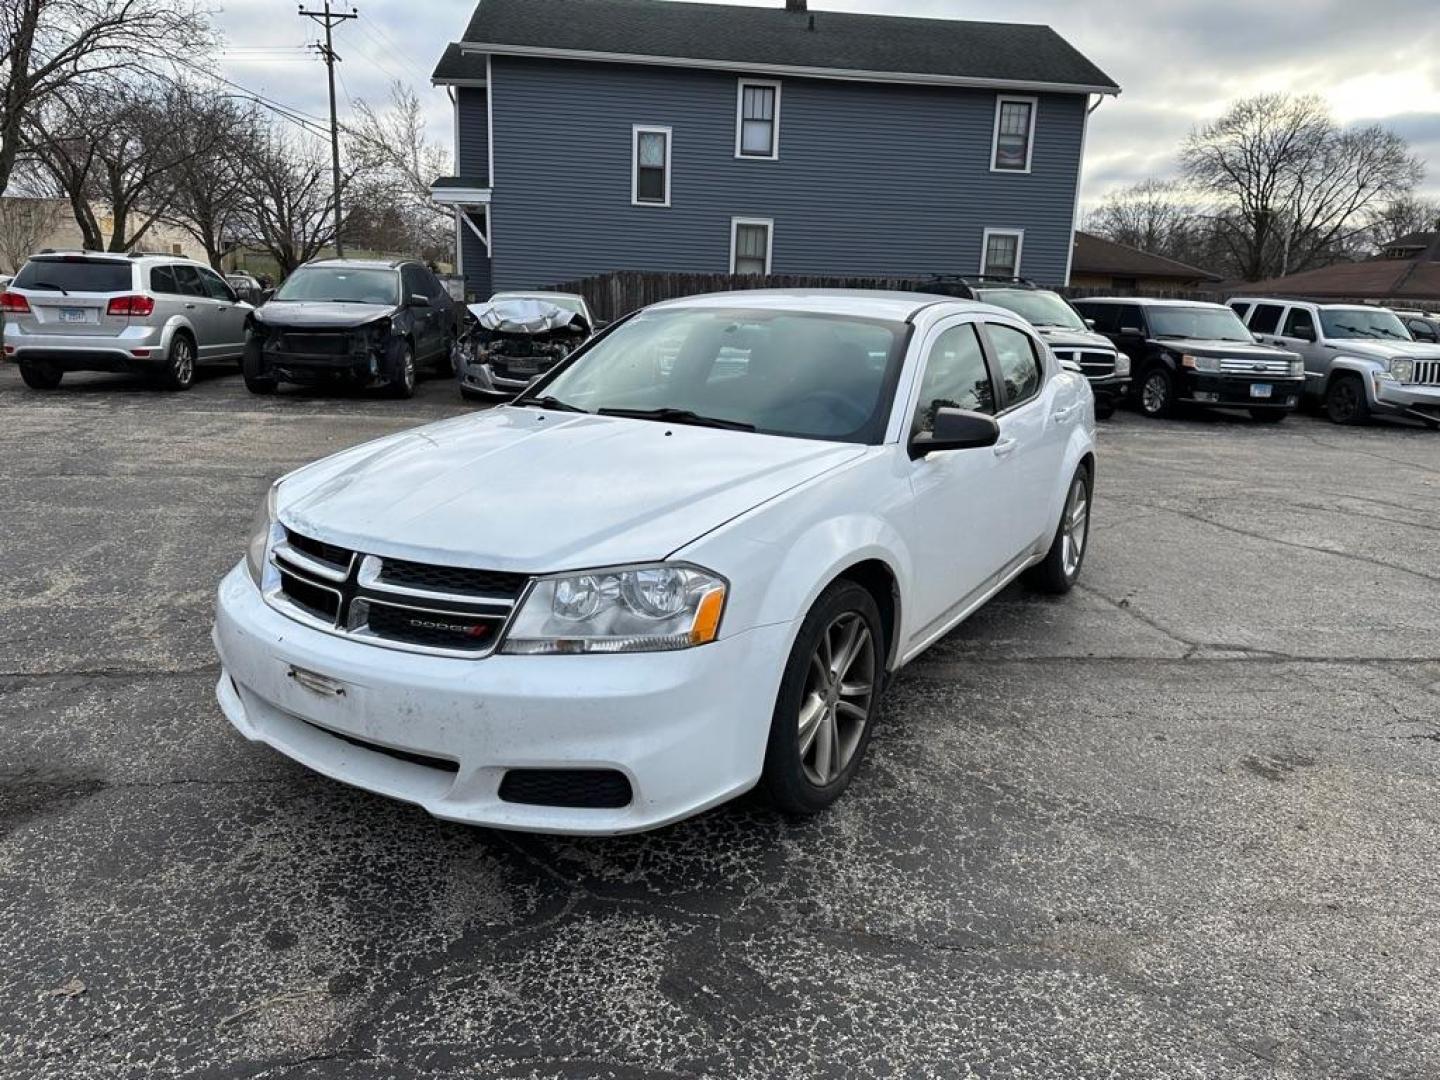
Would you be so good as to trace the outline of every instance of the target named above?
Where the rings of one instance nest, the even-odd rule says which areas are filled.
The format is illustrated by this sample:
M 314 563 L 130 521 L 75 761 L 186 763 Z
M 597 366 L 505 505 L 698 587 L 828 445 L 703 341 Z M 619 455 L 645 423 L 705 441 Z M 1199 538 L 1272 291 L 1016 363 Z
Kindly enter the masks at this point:
M 536 395 L 553 408 L 878 442 L 904 340 L 904 324 L 878 320 L 795 311 L 647 311 L 579 354 Z

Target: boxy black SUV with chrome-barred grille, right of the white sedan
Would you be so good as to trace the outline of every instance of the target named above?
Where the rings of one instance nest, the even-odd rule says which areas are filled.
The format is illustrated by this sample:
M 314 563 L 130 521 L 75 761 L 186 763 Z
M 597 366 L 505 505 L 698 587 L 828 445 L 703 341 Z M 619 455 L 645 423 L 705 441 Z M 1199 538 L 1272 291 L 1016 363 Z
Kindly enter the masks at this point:
M 1181 403 L 1247 409 L 1277 423 L 1305 392 L 1296 353 L 1256 344 L 1224 304 L 1185 300 L 1087 298 L 1076 310 L 1135 364 L 1136 405 L 1169 416 Z

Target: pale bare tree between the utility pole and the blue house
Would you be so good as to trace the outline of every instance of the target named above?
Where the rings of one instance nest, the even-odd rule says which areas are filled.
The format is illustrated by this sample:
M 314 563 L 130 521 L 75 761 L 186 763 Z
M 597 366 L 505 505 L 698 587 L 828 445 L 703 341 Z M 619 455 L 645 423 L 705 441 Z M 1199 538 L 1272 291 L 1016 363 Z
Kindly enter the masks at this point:
M 387 249 L 400 243 L 402 251 L 426 258 L 451 258 L 455 249 L 452 212 L 431 199 L 435 177 L 451 170 L 449 151 L 426 138 L 425 114 L 415 91 L 402 82 L 390 85 L 390 104 L 377 112 L 357 102 L 354 120 L 347 125 L 347 157 L 366 177 L 360 197 L 369 203 L 353 216 L 353 229 L 376 230 L 373 240 L 353 238 L 364 246 Z M 393 251 L 393 248 L 389 248 Z

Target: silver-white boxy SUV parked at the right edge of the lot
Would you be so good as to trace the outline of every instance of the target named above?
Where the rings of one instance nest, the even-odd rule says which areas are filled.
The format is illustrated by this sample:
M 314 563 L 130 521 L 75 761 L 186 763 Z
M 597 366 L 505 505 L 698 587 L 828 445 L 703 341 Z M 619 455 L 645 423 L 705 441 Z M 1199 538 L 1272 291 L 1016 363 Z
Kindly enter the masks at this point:
M 1440 428 L 1440 346 L 1416 341 L 1394 311 L 1264 297 L 1230 307 L 1257 341 L 1300 354 L 1305 393 L 1335 423 L 1390 413 Z

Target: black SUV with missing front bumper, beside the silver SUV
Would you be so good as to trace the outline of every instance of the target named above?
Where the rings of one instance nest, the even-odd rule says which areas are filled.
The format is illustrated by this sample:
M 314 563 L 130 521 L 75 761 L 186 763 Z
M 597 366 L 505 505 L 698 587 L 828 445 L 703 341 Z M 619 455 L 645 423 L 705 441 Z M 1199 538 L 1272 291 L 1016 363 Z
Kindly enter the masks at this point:
M 307 262 L 251 315 L 245 387 L 347 383 L 409 397 L 422 364 L 451 373 L 458 318 L 449 292 L 419 262 Z

